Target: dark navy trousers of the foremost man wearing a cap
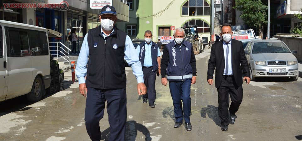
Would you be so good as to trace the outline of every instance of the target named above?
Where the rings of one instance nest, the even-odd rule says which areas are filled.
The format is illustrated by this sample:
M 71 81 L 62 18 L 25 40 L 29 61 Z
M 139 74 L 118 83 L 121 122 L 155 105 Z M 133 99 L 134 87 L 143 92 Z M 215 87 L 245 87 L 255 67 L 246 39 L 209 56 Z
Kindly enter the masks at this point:
M 99 122 L 104 116 L 105 101 L 107 101 L 109 141 L 124 141 L 127 120 L 126 88 L 100 90 L 87 87 L 87 90 L 85 125 L 90 139 L 101 140 Z

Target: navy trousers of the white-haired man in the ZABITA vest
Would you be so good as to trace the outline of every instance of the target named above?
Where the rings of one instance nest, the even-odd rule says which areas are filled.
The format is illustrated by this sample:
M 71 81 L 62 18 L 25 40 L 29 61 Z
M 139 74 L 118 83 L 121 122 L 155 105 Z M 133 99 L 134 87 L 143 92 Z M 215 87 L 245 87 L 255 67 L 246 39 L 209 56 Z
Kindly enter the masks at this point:
M 174 114 L 176 122 L 190 122 L 191 114 L 191 81 L 169 81 L 170 93 L 173 100 Z M 183 110 L 182 110 L 183 104 Z

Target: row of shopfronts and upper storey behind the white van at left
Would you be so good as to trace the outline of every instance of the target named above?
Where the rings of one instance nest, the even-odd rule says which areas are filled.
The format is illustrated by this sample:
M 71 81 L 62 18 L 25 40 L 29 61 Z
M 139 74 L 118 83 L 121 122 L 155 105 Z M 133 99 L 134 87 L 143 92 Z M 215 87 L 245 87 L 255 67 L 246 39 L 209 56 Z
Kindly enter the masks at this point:
M 78 36 L 76 51 L 79 52 L 83 38 L 88 32 L 100 25 L 98 15 L 101 9 L 91 9 L 90 0 L 64 0 L 69 8 L 5 8 L 9 3 L 51 4 L 61 3 L 62 0 L 0 0 L 0 19 L 18 23 L 31 24 L 62 33 L 60 38 L 49 38 L 49 41 L 59 41 L 71 49 L 71 42 L 67 39 L 72 28 L 76 28 Z M 125 0 L 112 0 L 117 12 L 117 22 L 128 22 L 128 5 Z M 50 49 L 54 50 L 54 49 Z

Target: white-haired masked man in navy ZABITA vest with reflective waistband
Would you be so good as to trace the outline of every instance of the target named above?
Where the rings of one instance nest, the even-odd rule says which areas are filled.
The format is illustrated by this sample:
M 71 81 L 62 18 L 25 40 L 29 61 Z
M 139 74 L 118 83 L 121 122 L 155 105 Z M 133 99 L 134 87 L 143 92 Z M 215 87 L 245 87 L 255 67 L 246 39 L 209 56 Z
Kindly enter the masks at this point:
M 184 118 L 186 130 L 191 131 L 190 93 L 191 84 L 195 84 L 197 77 L 196 60 L 192 44 L 183 41 L 184 33 L 185 31 L 182 28 L 175 29 L 173 34 L 175 40 L 167 44 L 164 48 L 161 59 L 161 83 L 167 86 L 167 82 L 169 81 L 176 119 L 174 128 L 179 128 Z

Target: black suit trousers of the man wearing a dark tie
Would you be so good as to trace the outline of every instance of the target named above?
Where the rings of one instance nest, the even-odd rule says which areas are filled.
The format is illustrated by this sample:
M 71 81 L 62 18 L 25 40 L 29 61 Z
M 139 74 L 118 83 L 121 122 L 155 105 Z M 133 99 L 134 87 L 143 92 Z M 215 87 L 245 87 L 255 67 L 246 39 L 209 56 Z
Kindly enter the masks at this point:
M 229 124 L 229 113 L 235 114 L 242 102 L 243 89 L 241 86 L 236 86 L 234 76 L 223 76 L 221 85 L 217 88 L 218 91 L 218 115 L 221 120 L 221 125 Z M 229 98 L 231 97 L 231 106 L 229 108 Z

